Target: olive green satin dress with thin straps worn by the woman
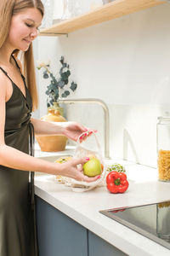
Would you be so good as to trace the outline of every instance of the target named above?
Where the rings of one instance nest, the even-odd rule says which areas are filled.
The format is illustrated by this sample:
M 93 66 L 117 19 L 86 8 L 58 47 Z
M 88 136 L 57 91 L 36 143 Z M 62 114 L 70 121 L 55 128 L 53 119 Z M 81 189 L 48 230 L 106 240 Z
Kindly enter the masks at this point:
M 12 80 L 11 83 L 13 94 L 6 102 L 5 143 L 33 155 L 31 96 L 27 88 L 25 97 Z M 33 189 L 33 172 L 0 166 L 0 256 L 38 255 Z

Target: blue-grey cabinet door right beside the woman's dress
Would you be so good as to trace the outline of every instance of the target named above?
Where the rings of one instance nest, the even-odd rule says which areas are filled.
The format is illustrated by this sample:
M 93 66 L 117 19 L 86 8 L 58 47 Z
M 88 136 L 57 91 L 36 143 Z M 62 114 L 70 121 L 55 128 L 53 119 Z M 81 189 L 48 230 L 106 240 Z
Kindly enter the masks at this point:
M 88 256 L 88 230 L 37 196 L 36 202 L 39 256 Z

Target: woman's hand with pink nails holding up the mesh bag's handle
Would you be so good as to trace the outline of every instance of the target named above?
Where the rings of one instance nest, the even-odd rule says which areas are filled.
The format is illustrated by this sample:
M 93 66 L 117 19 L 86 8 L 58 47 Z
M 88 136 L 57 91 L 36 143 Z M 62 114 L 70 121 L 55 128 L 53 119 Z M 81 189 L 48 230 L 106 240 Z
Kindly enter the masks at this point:
M 87 133 L 83 134 L 80 138 L 80 142 L 90 136 L 93 132 L 96 132 L 96 130 L 90 130 L 85 126 L 78 124 L 77 122 L 64 123 L 63 134 L 75 142 L 77 142 L 77 139 L 81 136 L 81 134 L 86 131 Z

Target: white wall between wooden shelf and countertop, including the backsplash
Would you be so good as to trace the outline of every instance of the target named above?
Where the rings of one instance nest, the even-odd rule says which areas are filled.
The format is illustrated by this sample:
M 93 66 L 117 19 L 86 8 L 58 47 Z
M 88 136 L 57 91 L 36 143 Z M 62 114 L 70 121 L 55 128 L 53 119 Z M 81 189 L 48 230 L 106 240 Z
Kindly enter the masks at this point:
M 76 97 L 96 97 L 110 108 L 111 156 L 156 166 L 156 119 L 170 113 L 170 4 L 146 9 L 61 36 L 39 37 L 37 59 L 59 70 L 65 56 Z M 44 79 L 38 73 L 39 115 L 46 113 Z M 82 114 L 82 111 L 84 113 Z M 67 119 L 99 130 L 102 108 L 67 106 Z

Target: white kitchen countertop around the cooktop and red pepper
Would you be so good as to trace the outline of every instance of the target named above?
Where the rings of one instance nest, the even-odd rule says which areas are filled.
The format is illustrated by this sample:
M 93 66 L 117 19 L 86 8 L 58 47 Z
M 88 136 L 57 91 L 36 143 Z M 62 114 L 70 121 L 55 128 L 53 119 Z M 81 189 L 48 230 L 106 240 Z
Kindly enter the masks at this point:
M 36 177 L 35 193 L 124 253 L 131 256 L 169 256 L 170 250 L 166 247 L 99 212 L 115 207 L 132 207 L 170 200 L 170 183 L 158 182 L 156 169 L 122 160 L 106 161 L 107 164 L 115 162 L 122 164 L 127 170 L 129 188 L 124 194 L 111 194 L 105 187 L 76 193 L 70 187 L 56 183 L 51 175 Z

